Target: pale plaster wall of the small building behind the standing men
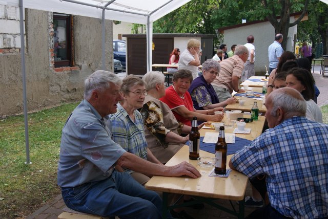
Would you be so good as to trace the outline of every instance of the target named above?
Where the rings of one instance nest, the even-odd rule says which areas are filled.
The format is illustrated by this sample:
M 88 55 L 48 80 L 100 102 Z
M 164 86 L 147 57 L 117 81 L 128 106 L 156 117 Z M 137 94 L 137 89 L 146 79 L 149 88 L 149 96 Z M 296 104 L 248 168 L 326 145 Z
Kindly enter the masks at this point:
M 291 17 L 290 22 L 294 21 L 294 17 Z M 297 33 L 297 26 L 289 29 L 289 36 L 294 38 L 294 34 Z M 255 46 L 255 73 L 257 75 L 265 74 L 265 67 L 269 70 L 269 58 L 268 47 L 274 41 L 275 30 L 269 21 L 262 22 L 254 25 L 242 26 L 234 29 L 224 30 L 224 44 L 227 44 L 228 51 L 233 44 L 244 45 L 247 43 L 247 36 L 254 36 Z M 293 44 L 292 44 L 293 45 Z M 292 47 L 288 47 L 288 51 L 293 51 Z

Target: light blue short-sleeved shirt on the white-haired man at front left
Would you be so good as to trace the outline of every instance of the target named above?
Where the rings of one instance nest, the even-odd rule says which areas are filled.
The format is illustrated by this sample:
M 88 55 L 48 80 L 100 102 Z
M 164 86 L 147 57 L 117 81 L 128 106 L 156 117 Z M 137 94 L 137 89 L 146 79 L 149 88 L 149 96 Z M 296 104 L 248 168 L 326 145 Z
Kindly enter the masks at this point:
M 87 100 L 71 113 L 61 135 L 57 176 L 60 187 L 75 187 L 111 176 L 111 167 L 126 151 L 111 139 L 105 125 L 107 118 L 101 118 Z

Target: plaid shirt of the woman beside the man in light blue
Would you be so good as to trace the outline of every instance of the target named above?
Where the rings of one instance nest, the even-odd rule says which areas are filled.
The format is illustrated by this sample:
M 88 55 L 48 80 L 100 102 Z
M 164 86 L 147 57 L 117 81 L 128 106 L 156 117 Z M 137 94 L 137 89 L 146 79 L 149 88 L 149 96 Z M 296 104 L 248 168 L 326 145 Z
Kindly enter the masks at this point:
M 109 115 L 108 127 L 111 127 L 112 140 L 123 149 L 140 158 L 147 159 L 147 141 L 144 132 L 144 120 L 139 111 L 134 111 L 135 121 L 131 120 L 127 111 L 118 103 L 117 112 Z M 125 169 L 128 173 L 133 172 Z

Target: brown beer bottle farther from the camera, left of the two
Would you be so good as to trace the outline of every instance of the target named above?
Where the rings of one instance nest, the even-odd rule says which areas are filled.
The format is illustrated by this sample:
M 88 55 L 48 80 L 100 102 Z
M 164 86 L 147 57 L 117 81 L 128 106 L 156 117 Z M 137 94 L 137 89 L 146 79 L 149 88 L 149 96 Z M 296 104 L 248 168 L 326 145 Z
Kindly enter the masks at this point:
M 189 134 L 189 159 L 197 160 L 199 158 L 199 139 L 200 134 L 198 132 L 197 117 L 193 117 L 191 125 L 191 132 Z

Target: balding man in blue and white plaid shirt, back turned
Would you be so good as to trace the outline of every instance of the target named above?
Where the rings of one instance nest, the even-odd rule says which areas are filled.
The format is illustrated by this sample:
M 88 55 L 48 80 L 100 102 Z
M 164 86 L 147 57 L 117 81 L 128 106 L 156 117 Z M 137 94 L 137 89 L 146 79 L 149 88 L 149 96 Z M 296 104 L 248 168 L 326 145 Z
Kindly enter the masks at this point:
M 265 106 L 270 128 L 229 163 L 251 182 L 266 176 L 260 193 L 268 191 L 270 204 L 248 218 L 327 218 L 328 125 L 306 119 L 306 102 L 290 87 L 272 92 Z

